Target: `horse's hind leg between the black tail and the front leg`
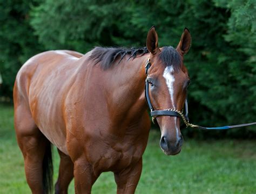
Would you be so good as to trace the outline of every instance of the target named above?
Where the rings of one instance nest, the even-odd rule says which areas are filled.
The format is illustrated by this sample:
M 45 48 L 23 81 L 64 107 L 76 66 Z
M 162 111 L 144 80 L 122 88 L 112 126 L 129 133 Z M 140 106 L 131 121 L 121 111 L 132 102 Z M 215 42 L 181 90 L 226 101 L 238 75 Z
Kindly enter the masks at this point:
M 70 156 L 64 154 L 58 149 L 60 163 L 59 163 L 59 176 L 55 184 L 55 193 L 68 193 L 69 183 L 72 181 L 74 164 Z

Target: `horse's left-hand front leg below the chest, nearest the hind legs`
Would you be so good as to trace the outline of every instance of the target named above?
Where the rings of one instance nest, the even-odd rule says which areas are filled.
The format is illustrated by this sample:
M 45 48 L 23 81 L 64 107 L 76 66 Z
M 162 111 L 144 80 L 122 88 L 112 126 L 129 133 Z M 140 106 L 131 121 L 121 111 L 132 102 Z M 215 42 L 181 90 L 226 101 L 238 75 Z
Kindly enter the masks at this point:
M 86 160 L 78 159 L 74 166 L 75 191 L 76 193 L 91 193 L 92 185 L 99 175 Z

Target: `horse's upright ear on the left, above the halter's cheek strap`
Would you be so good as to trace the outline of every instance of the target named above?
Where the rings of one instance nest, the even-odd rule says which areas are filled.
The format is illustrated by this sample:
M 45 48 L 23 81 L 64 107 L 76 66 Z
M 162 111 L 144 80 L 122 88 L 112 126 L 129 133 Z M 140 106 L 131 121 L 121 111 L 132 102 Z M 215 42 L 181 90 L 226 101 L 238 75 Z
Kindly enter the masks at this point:
M 147 33 L 147 49 L 153 55 L 160 51 L 158 47 L 158 35 L 156 32 L 156 27 L 152 26 Z

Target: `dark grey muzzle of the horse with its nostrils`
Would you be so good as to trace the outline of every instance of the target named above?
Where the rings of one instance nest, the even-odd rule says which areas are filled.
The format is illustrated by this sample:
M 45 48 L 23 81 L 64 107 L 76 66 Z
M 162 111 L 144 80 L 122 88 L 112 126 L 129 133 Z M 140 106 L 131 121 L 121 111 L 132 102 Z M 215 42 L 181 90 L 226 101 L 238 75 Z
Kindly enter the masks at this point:
M 166 136 L 162 136 L 160 140 L 160 147 L 166 155 L 176 155 L 180 153 L 183 143 L 183 136 L 180 135 L 175 143 L 170 142 Z

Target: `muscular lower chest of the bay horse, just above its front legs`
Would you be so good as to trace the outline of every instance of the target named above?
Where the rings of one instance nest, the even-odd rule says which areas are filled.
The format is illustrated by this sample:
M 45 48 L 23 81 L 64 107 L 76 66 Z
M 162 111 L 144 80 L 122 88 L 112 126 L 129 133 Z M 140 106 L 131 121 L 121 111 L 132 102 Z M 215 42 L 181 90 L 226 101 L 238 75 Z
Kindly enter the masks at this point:
M 120 171 L 137 163 L 146 148 L 148 135 L 117 138 L 104 136 L 87 142 L 86 158 L 95 171 Z

